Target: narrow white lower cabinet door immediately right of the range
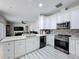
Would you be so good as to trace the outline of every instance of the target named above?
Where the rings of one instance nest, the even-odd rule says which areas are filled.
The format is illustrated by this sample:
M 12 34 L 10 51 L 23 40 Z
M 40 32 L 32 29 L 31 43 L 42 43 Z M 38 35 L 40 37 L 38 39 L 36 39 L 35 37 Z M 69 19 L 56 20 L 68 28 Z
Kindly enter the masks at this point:
M 76 42 L 75 39 L 70 38 L 69 39 L 69 52 L 71 54 L 76 54 Z

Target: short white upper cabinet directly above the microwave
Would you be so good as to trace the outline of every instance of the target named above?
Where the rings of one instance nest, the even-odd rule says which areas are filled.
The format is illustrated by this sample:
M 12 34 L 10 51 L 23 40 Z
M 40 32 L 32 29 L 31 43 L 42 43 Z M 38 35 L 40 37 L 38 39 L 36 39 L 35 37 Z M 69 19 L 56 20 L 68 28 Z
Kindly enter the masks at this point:
M 70 11 L 60 12 L 57 15 L 57 23 L 63 23 L 63 22 L 70 21 L 71 20 L 70 17 L 71 17 Z

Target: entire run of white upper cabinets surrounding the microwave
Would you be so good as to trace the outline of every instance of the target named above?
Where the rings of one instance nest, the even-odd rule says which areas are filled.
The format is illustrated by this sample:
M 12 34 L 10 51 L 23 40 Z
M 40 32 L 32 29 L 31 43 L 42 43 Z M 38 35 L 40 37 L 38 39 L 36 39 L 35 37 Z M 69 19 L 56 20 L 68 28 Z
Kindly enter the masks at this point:
M 56 29 L 56 24 L 70 21 L 70 29 L 79 29 L 79 6 L 64 10 L 51 16 L 43 16 L 41 29 Z

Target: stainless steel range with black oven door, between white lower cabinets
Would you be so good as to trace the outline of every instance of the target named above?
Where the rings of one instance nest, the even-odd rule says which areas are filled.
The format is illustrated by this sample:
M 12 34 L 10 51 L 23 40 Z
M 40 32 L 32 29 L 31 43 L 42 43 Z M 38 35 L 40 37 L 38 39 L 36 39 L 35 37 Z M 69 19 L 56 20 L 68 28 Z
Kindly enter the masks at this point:
M 64 53 L 69 54 L 69 37 L 70 35 L 56 35 L 54 47 Z

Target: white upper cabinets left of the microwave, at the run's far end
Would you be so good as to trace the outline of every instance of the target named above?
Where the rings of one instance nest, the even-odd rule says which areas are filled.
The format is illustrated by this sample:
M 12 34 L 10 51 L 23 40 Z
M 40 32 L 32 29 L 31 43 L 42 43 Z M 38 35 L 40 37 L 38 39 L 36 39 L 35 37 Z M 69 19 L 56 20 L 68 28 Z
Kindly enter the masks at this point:
M 43 16 L 40 19 L 40 29 L 56 29 L 56 16 Z

